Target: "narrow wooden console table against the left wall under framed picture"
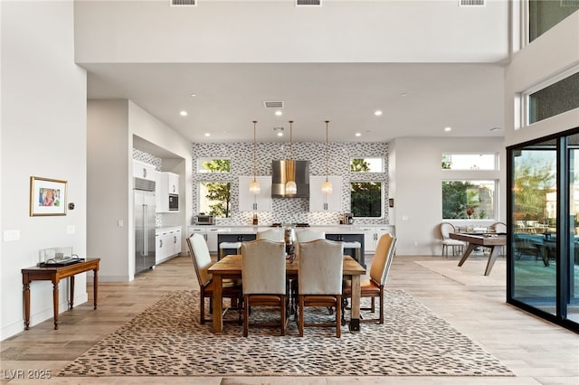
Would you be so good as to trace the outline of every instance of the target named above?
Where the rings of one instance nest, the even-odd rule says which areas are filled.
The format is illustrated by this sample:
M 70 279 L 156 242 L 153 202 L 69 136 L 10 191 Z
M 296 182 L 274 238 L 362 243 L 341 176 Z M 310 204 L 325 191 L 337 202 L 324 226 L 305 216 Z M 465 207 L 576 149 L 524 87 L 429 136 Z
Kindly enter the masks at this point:
M 54 312 L 54 330 L 58 329 L 58 284 L 63 278 L 70 278 L 69 286 L 69 310 L 74 305 L 74 276 L 89 270 L 94 272 L 92 286 L 94 297 L 94 309 L 97 309 L 99 295 L 99 262 L 100 258 L 87 259 L 69 266 L 22 269 L 22 282 L 24 284 L 24 329 L 30 329 L 30 283 L 32 281 L 52 281 L 52 306 Z

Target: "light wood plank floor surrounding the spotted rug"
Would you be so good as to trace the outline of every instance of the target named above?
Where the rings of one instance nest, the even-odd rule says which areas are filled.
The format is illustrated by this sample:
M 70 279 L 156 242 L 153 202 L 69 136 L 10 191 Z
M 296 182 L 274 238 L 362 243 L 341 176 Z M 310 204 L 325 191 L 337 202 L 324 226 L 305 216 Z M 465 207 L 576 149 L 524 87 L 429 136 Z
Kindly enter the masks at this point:
M 60 328 L 52 319 L 34 325 L 1 342 L 2 383 L 60 384 L 579 384 L 579 335 L 528 315 L 505 303 L 505 282 L 495 266 L 490 277 L 479 281 L 484 260 L 470 258 L 451 274 L 435 273 L 419 265 L 441 257 L 395 257 L 387 286 L 402 288 L 447 320 L 461 333 L 482 345 L 516 374 L 516 377 L 241 377 L 241 378 L 55 378 L 54 376 L 94 343 L 125 324 L 166 293 L 197 286 L 189 257 L 178 257 L 141 274 L 129 283 L 101 283 L 99 309 L 83 304 L 61 315 Z M 451 258 L 452 259 L 452 258 Z M 486 259 L 486 258 L 484 258 Z M 451 260 L 452 265 L 458 257 Z M 370 262 L 368 261 L 368 264 Z M 504 266 L 504 265 L 502 265 Z M 460 275 L 476 279 L 460 279 Z M 451 275 L 456 275 L 451 277 Z M 457 279 L 457 277 L 459 279 Z M 466 282 L 466 283 L 465 283 Z M 89 287 L 89 293 L 91 293 Z M 364 325 L 362 325 L 364 327 Z M 432 331 L 436 333 L 436 331 Z M 51 380 L 12 379 L 18 371 L 49 370 Z M 16 377 L 18 377 L 16 375 Z

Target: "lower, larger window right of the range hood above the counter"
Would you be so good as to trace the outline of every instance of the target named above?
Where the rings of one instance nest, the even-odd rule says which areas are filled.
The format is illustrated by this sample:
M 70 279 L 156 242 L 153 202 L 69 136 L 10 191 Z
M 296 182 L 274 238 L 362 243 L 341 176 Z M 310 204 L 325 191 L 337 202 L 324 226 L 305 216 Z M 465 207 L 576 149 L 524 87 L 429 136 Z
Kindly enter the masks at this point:
M 381 218 L 383 190 L 382 182 L 350 183 L 350 210 L 354 217 Z

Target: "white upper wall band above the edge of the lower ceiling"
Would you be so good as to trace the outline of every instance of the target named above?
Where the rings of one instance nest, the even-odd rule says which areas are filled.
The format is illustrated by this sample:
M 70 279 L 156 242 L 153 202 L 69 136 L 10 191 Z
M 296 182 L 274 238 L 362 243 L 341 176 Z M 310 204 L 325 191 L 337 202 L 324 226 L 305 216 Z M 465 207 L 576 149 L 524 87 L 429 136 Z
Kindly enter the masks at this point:
M 77 62 L 494 62 L 508 57 L 508 3 L 80 1 Z

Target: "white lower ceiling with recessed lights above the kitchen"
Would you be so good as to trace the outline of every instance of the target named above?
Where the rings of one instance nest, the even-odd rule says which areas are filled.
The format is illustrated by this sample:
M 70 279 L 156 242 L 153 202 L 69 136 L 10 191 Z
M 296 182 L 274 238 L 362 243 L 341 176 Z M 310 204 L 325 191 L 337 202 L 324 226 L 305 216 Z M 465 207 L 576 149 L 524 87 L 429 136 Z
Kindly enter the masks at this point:
M 130 99 L 192 142 L 385 142 L 502 136 L 503 69 L 492 64 L 85 64 L 89 99 Z M 195 93 L 195 97 L 191 94 Z M 283 101 L 281 117 L 264 101 Z M 383 111 L 376 117 L 376 109 Z M 179 112 L 187 111 L 186 117 Z M 285 127 L 278 137 L 273 127 Z M 451 127 L 450 133 L 444 127 Z M 361 133 L 362 136 L 355 136 Z M 209 133 L 210 136 L 204 136 Z

